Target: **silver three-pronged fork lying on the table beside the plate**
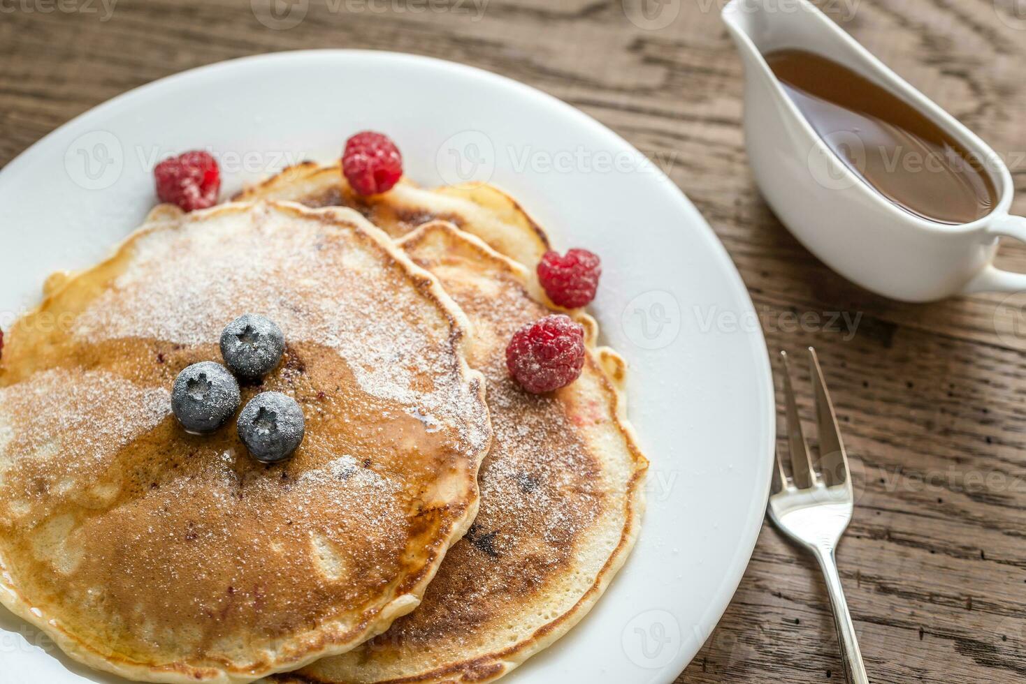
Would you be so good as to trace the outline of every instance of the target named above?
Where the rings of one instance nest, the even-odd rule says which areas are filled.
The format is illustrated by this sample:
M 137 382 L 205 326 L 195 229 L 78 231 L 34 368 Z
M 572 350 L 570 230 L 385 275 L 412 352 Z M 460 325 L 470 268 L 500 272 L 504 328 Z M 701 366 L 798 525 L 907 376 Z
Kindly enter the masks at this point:
M 852 613 L 844 600 L 844 590 L 837 572 L 834 550 L 852 521 L 855 496 L 852 490 L 847 455 L 840 440 L 833 403 L 823 380 L 823 370 L 816 350 L 808 347 L 810 368 L 816 389 L 816 418 L 819 424 L 820 458 L 814 464 L 808 455 L 798 420 L 798 407 L 791 389 L 791 370 L 787 352 L 781 351 L 784 364 L 784 394 L 787 410 L 787 441 L 791 452 L 791 479 L 784 472 L 781 455 L 777 454 L 773 488 L 770 496 L 770 517 L 780 529 L 813 552 L 820 562 L 830 592 L 837 640 L 840 642 L 844 674 L 850 684 L 869 684 L 862 652 L 852 625 Z M 817 472 L 816 465 L 819 466 Z

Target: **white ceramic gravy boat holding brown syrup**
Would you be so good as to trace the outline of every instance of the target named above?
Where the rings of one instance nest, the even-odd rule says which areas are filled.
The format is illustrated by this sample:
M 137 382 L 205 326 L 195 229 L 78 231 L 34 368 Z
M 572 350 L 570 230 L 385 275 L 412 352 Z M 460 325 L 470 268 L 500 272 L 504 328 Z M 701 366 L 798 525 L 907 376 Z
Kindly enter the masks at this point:
M 999 237 L 1026 242 L 1026 218 L 1009 215 L 1012 175 L 993 149 L 805 0 L 732 0 L 722 16 L 744 60 L 745 143 L 755 180 L 802 245 L 854 283 L 904 301 L 1026 291 L 1026 274 L 991 263 Z M 951 225 L 884 198 L 823 142 L 784 92 L 763 58 L 782 48 L 840 62 L 933 119 L 990 174 L 994 209 Z

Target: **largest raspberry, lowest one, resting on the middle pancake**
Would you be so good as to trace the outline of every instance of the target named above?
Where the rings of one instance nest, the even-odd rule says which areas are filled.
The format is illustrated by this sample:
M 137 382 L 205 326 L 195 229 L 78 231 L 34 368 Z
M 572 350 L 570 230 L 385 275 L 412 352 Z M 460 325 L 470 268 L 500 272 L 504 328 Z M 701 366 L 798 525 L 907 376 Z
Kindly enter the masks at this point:
M 527 324 L 506 347 L 506 368 L 535 394 L 565 387 L 584 368 L 584 328 L 562 314 Z

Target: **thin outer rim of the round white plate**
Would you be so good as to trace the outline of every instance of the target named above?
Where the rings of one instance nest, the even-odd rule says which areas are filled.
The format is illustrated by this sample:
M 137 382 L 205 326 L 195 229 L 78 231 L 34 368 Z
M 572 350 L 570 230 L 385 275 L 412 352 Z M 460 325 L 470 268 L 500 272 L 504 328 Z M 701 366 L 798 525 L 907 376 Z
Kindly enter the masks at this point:
M 485 69 L 448 59 L 442 59 L 439 57 L 397 52 L 392 50 L 353 48 L 294 49 L 245 55 L 195 67 L 175 74 L 169 74 L 149 83 L 131 88 L 125 92 L 119 93 L 118 95 L 115 95 L 86 110 L 85 112 L 57 126 L 10 160 L 2 169 L 0 169 L 0 188 L 2 188 L 4 182 L 9 176 L 16 172 L 23 165 L 30 162 L 31 157 L 34 155 L 44 154 L 47 148 L 61 144 L 62 138 L 72 134 L 74 129 L 89 125 L 91 120 L 103 117 L 108 111 L 119 106 L 125 100 L 146 96 L 150 94 L 151 91 L 159 90 L 179 82 L 194 80 L 196 78 L 212 77 L 222 71 L 245 69 L 251 63 L 289 60 L 299 62 L 303 59 L 319 57 L 358 57 L 392 60 L 397 63 L 405 61 L 408 63 L 418 63 L 429 68 L 445 70 L 456 74 L 457 76 L 462 75 L 469 78 L 489 80 L 497 85 L 510 88 L 518 95 L 530 97 L 548 108 L 558 110 L 562 115 L 576 120 L 577 123 L 591 129 L 595 134 L 613 140 L 618 145 L 622 145 L 635 155 L 644 157 L 639 149 L 637 149 L 619 133 L 573 104 L 565 102 L 555 95 L 541 90 L 540 88 L 536 88 L 508 76 L 497 74 Z M 718 269 L 725 274 L 733 294 L 738 298 L 739 303 L 742 305 L 742 309 L 744 309 L 743 311 L 739 311 L 739 313 L 743 315 L 753 315 L 755 316 L 755 319 L 758 320 L 758 314 L 755 310 L 755 304 L 752 301 L 751 294 L 749 293 L 737 265 L 731 258 L 726 247 L 713 230 L 709 221 L 698 210 L 684 191 L 675 182 L 673 182 L 673 180 L 661 168 L 658 168 L 658 165 L 654 165 L 653 171 L 655 172 L 653 182 L 659 182 L 664 186 L 664 193 L 668 197 L 673 198 L 673 201 L 678 206 L 679 211 L 689 215 L 693 219 L 698 219 L 692 222 L 697 223 L 700 226 L 701 230 L 705 233 L 707 242 L 710 243 L 712 251 L 719 261 Z M 764 413 L 762 417 L 764 423 L 759 427 L 764 430 L 766 435 L 766 443 L 763 445 L 765 451 L 764 459 L 766 463 L 770 463 L 774 458 L 777 440 L 776 392 L 772 365 L 770 361 L 770 352 L 761 326 L 755 326 L 751 330 L 745 330 L 744 334 L 748 337 L 749 344 L 752 347 L 753 360 L 758 367 L 757 371 L 759 377 L 754 379 L 755 384 L 761 384 L 763 387 L 761 400 L 764 403 Z M 630 414 L 629 409 L 628 414 Z M 738 542 L 735 545 L 738 552 L 738 562 L 732 563 L 731 567 L 724 573 L 723 581 L 720 584 L 720 591 L 718 591 L 716 595 L 710 599 L 708 609 L 703 613 L 700 618 L 700 623 L 695 626 L 696 630 L 701 630 L 703 641 L 689 642 L 692 644 L 690 648 L 688 648 L 686 644 L 682 644 L 676 655 L 665 667 L 654 671 L 654 676 L 657 677 L 658 681 L 666 682 L 666 684 L 672 684 L 672 682 L 683 672 L 687 665 L 701 650 L 705 641 L 707 641 L 712 635 L 712 632 L 719 624 L 724 612 L 726 611 L 727 606 L 737 594 L 741 580 L 751 563 L 751 558 L 762 529 L 765 516 L 764 511 L 770 498 L 771 481 L 772 468 L 766 468 L 763 481 L 758 487 L 758 490 L 761 494 L 756 502 L 754 502 L 759 504 L 759 506 L 752 509 L 753 511 L 758 511 L 759 514 L 756 516 L 753 513 L 750 516 L 744 526 L 742 535 L 739 537 Z M 639 533 L 642 536 L 644 533 L 643 530 L 645 526 L 644 519 L 649 514 L 650 508 L 646 510 L 645 514 L 642 516 L 642 521 L 639 527 Z M 632 552 L 629 559 L 634 558 L 635 556 L 636 552 Z M 742 559 L 744 562 L 741 562 Z M 616 582 L 616 580 L 614 580 L 614 582 Z M 668 676 L 668 678 L 664 679 L 663 676 Z

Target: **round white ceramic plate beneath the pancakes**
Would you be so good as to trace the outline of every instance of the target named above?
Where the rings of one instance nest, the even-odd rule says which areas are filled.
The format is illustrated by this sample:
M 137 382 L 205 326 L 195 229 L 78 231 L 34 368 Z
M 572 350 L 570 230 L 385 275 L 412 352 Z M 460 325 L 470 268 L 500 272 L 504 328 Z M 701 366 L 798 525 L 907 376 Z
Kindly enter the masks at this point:
M 509 681 L 673 681 L 734 595 L 762 523 L 768 359 L 745 287 L 695 207 L 563 102 L 475 69 L 365 51 L 251 57 L 139 88 L 0 171 L 0 326 L 39 300 L 49 272 L 96 262 L 140 223 L 163 158 L 208 148 L 227 194 L 332 159 L 364 128 L 391 135 L 421 183 L 490 180 L 557 248 L 601 255 L 592 311 L 630 367 L 628 410 L 652 461 L 647 511 L 605 597 Z M 5 681 L 115 681 L 2 609 L 0 658 Z

